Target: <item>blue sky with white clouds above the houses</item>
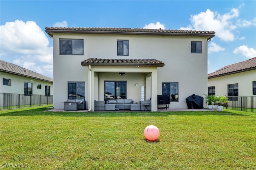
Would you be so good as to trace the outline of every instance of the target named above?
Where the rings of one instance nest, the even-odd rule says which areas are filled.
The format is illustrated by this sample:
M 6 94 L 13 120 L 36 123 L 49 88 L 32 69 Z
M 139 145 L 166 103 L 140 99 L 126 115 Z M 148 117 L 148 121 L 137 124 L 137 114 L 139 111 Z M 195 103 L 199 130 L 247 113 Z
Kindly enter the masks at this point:
M 0 0 L 1 60 L 52 77 L 46 27 L 214 31 L 208 73 L 256 57 L 255 0 Z

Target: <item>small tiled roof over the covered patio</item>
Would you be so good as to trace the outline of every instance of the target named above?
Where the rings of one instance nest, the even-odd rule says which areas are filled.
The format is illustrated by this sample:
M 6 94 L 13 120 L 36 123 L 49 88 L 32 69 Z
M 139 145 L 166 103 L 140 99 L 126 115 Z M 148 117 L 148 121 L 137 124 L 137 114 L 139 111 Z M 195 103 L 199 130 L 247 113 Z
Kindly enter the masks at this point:
M 151 66 L 164 67 L 164 62 L 156 59 L 101 59 L 89 58 L 81 62 L 82 66 Z

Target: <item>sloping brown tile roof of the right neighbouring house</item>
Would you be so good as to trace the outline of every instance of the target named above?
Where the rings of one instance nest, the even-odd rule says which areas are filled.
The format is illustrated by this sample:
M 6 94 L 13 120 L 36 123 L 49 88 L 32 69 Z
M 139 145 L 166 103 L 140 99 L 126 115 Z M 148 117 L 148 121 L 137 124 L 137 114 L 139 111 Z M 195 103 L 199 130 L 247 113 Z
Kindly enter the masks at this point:
M 208 79 L 254 69 L 256 69 L 256 57 L 218 69 L 217 71 L 208 74 Z

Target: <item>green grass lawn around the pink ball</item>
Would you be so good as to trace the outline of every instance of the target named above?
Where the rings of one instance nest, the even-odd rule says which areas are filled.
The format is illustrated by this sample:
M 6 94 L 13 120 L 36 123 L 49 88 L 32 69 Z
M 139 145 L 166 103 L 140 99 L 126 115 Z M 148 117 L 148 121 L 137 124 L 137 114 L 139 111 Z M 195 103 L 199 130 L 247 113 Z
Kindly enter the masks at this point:
M 255 113 L 46 110 L 1 111 L 1 167 L 256 169 Z M 158 140 L 144 138 L 148 125 L 159 128 Z

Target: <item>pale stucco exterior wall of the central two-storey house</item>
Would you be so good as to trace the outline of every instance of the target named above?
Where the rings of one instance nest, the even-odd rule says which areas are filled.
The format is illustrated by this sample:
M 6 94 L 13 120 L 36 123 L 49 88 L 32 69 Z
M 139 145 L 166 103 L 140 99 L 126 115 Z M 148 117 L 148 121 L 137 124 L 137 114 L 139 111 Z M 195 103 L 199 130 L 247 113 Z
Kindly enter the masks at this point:
M 84 39 L 84 55 L 59 55 L 59 39 Z M 117 40 L 129 40 L 129 56 L 117 55 Z M 202 42 L 202 53 L 191 53 L 191 41 Z M 53 38 L 53 78 L 54 78 L 54 108 L 63 109 L 62 101 L 67 99 L 68 81 L 84 81 L 85 95 L 88 101 L 88 67 L 82 67 L 81 61 L 88 58 L 109 59 L 158 59 L 165 63 L 164 67 L 157 68 L 156 81 L 157 95 L 162 95 L 162 82 L 178 82 L 179 101 L 172 102 L 172 109 L 186 109 L 186 97 L 195 93 L 202 97 L 207 93 L 207 38 L 189 36 L 141 36 L 141 35 L 105 35 L 105 34 L 54 34 Z M 125 70 L 126 67 L 123 67 Z M 126 72 L 126 71 L 124 71 Z M 115 74 L 97 73 L 99 91 L 98 100 L 104 96 L 105 80 L 118 80 Z M 143 73 L 134 77 L 134 73 L 127 73 L 128 91 L 130 88 L 140 87 Z M 138 87 L 135 87 L 138 83 Z M 131 86 L 131 87 L 130 87 Z M 97 93 L 94 89 L 94 93 Z M 135 92 L 134 92 L 135 93 Z M 146 89 L 146 99 L 150 99 L 150 93 Z M 95 99 L 96 99 L 95 98 Z M 138 97 L 128 98 L 137 102 Z M 138 99 L 136 99 L 138 98 Z M 86 104 L 88 104 L 86 102 Z M 88 107 L 87 107 L 88 108 Z

